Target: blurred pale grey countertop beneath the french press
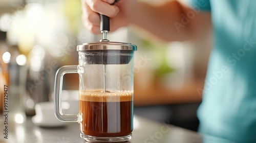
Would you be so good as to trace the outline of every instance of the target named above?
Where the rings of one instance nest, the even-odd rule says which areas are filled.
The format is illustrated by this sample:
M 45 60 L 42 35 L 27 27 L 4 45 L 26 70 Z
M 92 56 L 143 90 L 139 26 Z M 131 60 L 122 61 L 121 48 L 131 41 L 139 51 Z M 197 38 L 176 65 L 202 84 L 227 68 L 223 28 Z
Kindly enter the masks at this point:
M 31 122 L 27 117 L 23 124 L 8 123 L 8 139 L 4 138 L 4 116 L 0 121 L 0 142 L 86 142 L 79 136 L 77 123 L 68 123 L 65 127 L 41 128 Z M 205 136 L 197 132 L 159 123 L 135 115 L 133 138 L 127 142 L 233 142 L 217 137 Z

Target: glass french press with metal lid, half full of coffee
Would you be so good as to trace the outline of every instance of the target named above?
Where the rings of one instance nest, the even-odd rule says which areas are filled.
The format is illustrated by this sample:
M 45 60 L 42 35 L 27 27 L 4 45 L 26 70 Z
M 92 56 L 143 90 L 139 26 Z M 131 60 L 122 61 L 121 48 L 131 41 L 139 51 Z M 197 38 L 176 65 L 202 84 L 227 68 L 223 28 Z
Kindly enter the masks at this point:
M 79 65 L 62 66 L 56 73 L 55 115 L 63 122 L 78 122 L 86 141 L 121 142 L 132 138 L 137 46 L 106 39 L 109 17 L 100 18 L 103 39 L 78 45 Z M 79 114 L 63 114 L 62 79 L 72 73 L 79 74 Z

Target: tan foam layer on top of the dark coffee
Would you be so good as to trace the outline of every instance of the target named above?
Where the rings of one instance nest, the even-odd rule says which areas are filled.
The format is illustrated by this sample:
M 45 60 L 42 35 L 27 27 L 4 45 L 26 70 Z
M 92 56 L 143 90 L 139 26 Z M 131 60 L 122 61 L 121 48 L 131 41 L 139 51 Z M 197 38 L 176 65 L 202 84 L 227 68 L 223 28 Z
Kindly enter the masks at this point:
M 122 91 L 122 92 L 80 91 L 79 100 L 91 101 L 91 102 L 132 101 L 133 91 Z

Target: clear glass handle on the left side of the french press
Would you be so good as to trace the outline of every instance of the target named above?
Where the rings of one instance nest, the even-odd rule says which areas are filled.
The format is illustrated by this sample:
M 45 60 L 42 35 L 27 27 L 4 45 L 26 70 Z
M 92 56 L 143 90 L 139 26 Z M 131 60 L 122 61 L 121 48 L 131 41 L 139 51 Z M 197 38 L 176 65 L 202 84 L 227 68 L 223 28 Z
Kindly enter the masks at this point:
M 65 74 L 78 74 L 79 65 L 67 65 L 60 67 L 55 75 L 54 82 L 54 112 L 59 121 L 79 122 L 78 114 L 63 114 L 61 111 L 61 91 L 63 76 Z

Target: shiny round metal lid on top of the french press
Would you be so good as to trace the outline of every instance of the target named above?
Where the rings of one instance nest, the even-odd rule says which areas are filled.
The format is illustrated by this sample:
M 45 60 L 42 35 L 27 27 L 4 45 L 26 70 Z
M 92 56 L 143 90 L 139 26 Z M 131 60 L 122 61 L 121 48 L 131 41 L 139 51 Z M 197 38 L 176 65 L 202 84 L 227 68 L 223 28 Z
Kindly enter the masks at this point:
M 77 51 L 90 50 L 132 50 L 137 51 L 137 46 L 131 43 L 101 41 L 94 43 L 83 43 L 77 45 Z

